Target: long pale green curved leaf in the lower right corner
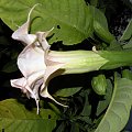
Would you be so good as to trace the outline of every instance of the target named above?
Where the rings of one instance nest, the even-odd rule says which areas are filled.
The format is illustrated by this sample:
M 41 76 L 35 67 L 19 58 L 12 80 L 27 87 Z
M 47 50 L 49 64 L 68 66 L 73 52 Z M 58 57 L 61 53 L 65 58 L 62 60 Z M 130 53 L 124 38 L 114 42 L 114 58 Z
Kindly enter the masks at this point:
M 129 120 L 132 106 L 132 80 L 122 78 L 114 82 L 109 108 L 95 132 L 120 132 Z

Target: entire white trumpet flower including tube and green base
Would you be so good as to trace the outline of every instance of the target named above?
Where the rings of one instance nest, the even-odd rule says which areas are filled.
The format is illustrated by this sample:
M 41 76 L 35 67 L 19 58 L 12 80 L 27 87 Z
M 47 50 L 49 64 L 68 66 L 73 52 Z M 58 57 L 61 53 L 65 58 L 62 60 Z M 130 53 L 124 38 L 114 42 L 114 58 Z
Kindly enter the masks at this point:
M 35 34 L 29 33 L 30 15 L 34 7 L 31 9 L 26 22 L 12 34 L 12 38 L 22 42 L 25 47 L 18 56 L 18 67 L 23 77 L 12 79 L 11 86 L 20 88 L 28 98 L 35 99 L 37 113 L 40 111 L 40 96 L 67 107 L 48 94 L 47 86 L 53 77 L 62 74 L 80 74 L 132 65 L 131 52 L 51 51 L 46 36 L 53 29 Z

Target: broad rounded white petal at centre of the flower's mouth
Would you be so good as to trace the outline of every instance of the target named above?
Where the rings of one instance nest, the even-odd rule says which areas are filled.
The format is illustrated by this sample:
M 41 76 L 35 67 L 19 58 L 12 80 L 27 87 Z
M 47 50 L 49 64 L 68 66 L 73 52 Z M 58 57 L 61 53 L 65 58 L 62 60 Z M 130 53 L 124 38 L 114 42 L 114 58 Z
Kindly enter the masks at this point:
M 18 57 L 18 66 L 24 77 L 29 77 L 38 72 L 44 73 L 46 65 L 44 63 L 43 50 L 34 45 L 26 46 Z

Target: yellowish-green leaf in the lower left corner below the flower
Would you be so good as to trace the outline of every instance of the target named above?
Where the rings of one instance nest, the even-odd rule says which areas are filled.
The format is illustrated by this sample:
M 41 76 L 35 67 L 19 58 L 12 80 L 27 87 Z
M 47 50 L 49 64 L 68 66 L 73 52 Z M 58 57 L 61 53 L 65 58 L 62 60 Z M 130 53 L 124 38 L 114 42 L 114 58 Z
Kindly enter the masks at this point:
M 0 102 L 0 130 L 6 132 L 52 132 L 58 117 L 50 109 L 29 111 L 14 99 Z

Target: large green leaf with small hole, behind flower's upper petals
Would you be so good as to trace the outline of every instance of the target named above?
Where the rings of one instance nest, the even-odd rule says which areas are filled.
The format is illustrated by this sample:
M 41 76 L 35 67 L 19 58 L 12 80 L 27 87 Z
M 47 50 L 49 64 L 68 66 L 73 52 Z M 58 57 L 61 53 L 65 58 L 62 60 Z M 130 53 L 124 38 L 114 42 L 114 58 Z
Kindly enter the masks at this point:
M 37 6 L 31 31 L 45 31 L 55 28 L 51 43 L 63 41 L 75 44 L 91 34 L 92 13 L 84 0 L 0 0 L 0 18 L 12 29 L 26 21 L 31 8 Z

